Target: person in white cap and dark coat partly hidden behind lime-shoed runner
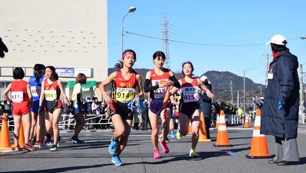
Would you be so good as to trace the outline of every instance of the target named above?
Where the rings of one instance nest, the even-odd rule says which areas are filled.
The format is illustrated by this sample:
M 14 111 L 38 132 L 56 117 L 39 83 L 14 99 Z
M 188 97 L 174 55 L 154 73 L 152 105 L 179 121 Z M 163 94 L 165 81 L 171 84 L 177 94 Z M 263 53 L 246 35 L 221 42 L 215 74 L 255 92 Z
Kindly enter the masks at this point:
M 212 91 L 212 83 L 211 81 L 207 79 L 206 76 L 202 76 L 200 80 L 203 81 L 203 83 L 205 84 L 206 88 L 209 91 Z M 211 123 L 212 123 L 211 122 L 212 99 L 208 97 L 207 94 L 203 90 L 200 91 L 199 104 L 200 104 L 200 111 L 204 113 L 207 138 L 210 139 L 209 128 L 211 127 Z

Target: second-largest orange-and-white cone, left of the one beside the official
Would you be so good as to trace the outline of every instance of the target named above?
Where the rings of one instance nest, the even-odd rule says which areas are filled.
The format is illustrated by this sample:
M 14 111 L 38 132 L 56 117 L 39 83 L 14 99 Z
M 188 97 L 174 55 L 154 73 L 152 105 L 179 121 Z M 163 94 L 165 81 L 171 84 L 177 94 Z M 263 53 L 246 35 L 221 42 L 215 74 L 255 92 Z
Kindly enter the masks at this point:
M 223 111 L 223 115 L 220 114 L 220 123 L 219 123 L 219 128 L 218 128 L 218 133 L 217 133 L 217 141 L 214 144 L 214 146 L 215 147 L 233 147 L 233 145 L 231 145 L 230 141 L 228 140 L 224 111 Z

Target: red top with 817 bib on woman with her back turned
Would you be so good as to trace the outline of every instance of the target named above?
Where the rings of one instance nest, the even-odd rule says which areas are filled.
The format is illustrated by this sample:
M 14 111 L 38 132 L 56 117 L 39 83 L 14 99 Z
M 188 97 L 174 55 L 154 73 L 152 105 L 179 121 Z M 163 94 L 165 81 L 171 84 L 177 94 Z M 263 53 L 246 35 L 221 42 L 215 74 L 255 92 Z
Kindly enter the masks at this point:
M 15 80 L 11 83 L 11 100 L 13 103 L 29 102 L 27 93 L 27 81 Z

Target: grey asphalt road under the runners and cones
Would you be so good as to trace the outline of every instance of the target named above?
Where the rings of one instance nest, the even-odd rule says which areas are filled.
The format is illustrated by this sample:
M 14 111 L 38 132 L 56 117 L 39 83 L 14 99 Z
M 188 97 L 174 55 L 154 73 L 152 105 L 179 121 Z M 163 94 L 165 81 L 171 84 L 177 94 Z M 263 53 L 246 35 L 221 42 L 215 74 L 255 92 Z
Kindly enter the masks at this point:
M 178 141 L 170 138 L 170 152 L 161 159 L 153 159 L 151 131 L 135 131 L 121 160 L 123 166 L 115 166 L 108 153 L 112 131 L 80 134 L 84 145 L 75 145 L 69 138 L 72 132 L 61 132 L 63 139 L 58 152 L 37 150 L 35 152 L 0 153 L 1 172 L 304 172 L 306 169 L 306 126 L 298 128 L 300 162 L 293 166 L 268 164 L 269 159 L 247 159 L 252 140 L 252 128 L 228 127 L 233 147 L 213 147 L 217 130 L 211 130 L 212 142 L 199 142 L 198 157 L 190 158 L 191 136 Z M 12 136 L 12 135 L 11 135 Z M 269 154 L 275 153 L 274 137 L 266 136 Z M 161 151 L 161 147 L 160 147 Z

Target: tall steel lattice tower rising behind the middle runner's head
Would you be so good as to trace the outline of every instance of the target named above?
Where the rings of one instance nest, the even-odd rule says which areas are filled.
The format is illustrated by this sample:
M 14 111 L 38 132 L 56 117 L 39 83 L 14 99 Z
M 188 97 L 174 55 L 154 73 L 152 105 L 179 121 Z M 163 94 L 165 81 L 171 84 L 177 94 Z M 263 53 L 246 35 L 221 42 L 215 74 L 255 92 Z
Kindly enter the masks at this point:
M 166 68 L 170 69 L 170 56 L 169 56 L 169 37 L 168 37 L 168 24 L 167 21 L 167 13 L 164 13 L 164 21 L 163 21 L 163 52 L 166 55 Z

